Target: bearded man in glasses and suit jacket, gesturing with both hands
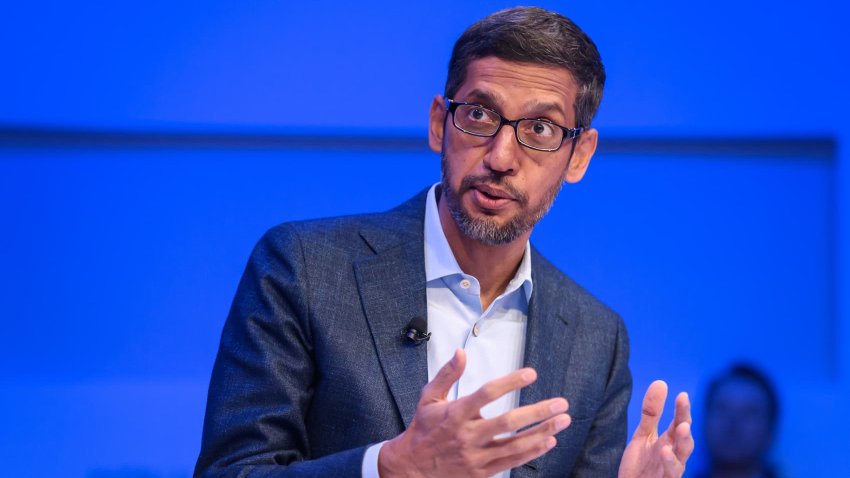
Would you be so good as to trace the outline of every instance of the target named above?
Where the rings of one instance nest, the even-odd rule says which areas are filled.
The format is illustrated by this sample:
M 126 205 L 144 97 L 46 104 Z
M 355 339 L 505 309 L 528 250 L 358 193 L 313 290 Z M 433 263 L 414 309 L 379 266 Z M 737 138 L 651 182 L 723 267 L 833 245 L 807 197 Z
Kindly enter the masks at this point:
M 470 27 L 431 105 L 441 183 L 387 213 L 283 224 L 254 250 L 196 475 L 681 476 L 687 397 L 659 436 L 654 383 L 624 452 L 623 322 L 528 243 L 587 169 L 603 83 L 560 15 Z

